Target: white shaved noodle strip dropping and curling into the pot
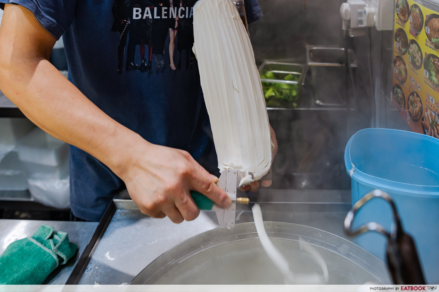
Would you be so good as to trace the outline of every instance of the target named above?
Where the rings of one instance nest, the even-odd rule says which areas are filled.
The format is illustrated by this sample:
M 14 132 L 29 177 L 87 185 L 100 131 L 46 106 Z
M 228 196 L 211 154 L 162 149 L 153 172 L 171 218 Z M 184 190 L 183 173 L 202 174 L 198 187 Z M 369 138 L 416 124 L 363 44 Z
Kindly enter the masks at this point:
M 311 245 L 304 242 L 302 238 L 299 237 L 300 248 L 307 252 L 313 260 L 315 260 L 320 268 L 323 270 L 323 275 L 317 273 L 303 273 L 294 274 L 291 272 L 289 263 L 285 257 L 279 252 L 279 250 L 273 245 L 270 238 L 265 232 L 264 222 L 262 219 L 261 207 L 255 204 L 252 207 L 253 219 L 255 220 L 256 231 L 258 232 L 259 240 L 261 241 L 262 247 L 267 253 L 270 260 L 273 261 L 274 265 L 280 270 L 284 276 L 285 284 L 326 284 L 329 280 L 329 273 L 327 270 L 326 263 L 323 257 L 314 249 Z

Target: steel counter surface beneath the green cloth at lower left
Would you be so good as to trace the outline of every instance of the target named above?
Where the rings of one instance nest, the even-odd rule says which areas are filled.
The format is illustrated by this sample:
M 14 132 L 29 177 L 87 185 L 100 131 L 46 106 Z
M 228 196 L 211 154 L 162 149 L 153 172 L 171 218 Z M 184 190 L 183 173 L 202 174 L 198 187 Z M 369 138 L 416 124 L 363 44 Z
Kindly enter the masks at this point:
M 68 239 L 78 245 L 79 249 L 65 265 L 56 268 L 43 284 L 65 284 L 68 276 L 89 242 L 97 222 L 44 221 L 44 220 L 0 220 L 0 254 L 6 247 L 18 239 L 32 236 L 41 224 L 53 226 L 56 231 L 68 233 Z

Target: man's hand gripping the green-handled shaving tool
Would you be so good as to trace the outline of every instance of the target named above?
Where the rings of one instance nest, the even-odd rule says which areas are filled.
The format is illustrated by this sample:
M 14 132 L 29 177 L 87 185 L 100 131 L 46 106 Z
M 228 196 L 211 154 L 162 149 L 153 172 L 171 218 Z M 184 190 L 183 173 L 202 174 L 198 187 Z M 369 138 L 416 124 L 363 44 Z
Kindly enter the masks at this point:
M 231 199 L 192 156 L 183 150 L 145 144 L 120 177 L 140 211 L 155 218 L 168 216 L 174 223 L 194 220 L 200 210 L 190 195 L 198 191 L 223 208 Z

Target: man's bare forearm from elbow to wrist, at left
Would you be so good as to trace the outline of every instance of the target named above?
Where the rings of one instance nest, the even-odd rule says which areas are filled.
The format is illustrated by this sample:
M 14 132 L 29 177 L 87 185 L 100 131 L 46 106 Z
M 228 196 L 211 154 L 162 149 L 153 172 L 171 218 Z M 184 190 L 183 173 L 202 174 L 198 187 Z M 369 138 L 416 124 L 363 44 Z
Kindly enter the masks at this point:
M 0 80 L 4 94 L 33 123 L 121 175 L 124 155 L 140 136 L 97 108 L 47 60 L 12 61 L 0 69 Z

